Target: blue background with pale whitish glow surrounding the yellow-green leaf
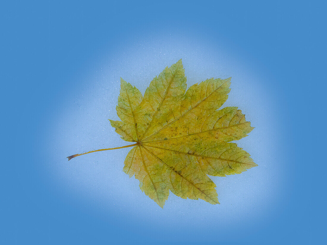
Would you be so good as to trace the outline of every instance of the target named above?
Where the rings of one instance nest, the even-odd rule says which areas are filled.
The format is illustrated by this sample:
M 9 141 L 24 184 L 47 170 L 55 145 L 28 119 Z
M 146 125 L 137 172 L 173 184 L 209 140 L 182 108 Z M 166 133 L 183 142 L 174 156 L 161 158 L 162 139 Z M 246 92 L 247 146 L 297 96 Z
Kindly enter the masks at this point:
M 3 4 L 3 244 L 321 242 L 324 214 L 314 211 L 322 183 L 313 174 L 322 168 L 309 169 L 319 138 L 313 107 L 324 114 L 312 92 L 326 63 L 313 57 L 325 52 L 323 8 L 301 1 Z M 117 120 L 119 77 L 144 92 L 179 58 L 188 83 L 232 76 L 226 105 L 240 106 L 256 127 L 240 145 L 259 166 L 213 178 L 220 205 L 171 194 L 161 209 L 121 171 L 128 149 L 65 158 L 125 145 L 107 122 Z

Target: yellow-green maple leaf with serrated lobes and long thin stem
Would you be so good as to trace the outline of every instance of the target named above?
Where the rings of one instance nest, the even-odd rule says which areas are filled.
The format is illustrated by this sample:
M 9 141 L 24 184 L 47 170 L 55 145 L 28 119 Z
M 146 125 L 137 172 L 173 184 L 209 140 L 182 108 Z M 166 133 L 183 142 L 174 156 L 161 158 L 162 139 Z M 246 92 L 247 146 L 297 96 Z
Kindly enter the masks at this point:
M 230 83 L 231 78 L 210 78 L 186 91 L 181 60 L 156 76 L 144 96 L 121 78 L 116 106 L 121 121 L 110 123 L 122 139 L 136 143 L 111 149 L 134 146 L 123 170 L 135 175 L 140 189 L 159 206 L 169 190 L 184 199 L 219 204 L 208 175 L 226 176 L 257 166 L 230 142 L 246 137 L 253 129 L 250 122 L 237 107 L 217 110 L 228 98 Z

